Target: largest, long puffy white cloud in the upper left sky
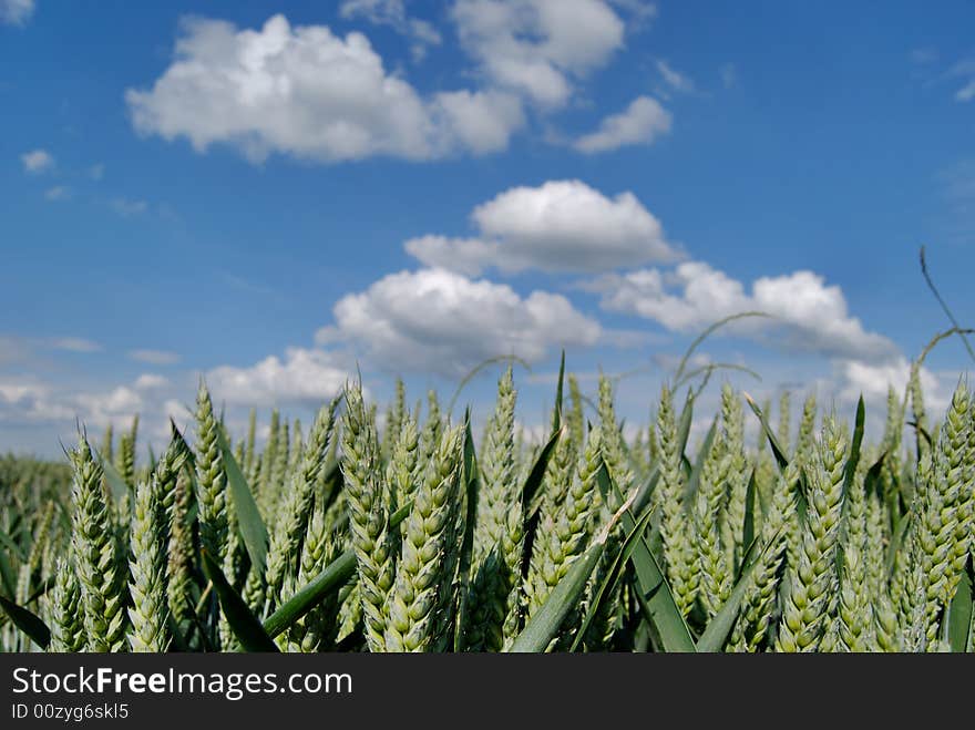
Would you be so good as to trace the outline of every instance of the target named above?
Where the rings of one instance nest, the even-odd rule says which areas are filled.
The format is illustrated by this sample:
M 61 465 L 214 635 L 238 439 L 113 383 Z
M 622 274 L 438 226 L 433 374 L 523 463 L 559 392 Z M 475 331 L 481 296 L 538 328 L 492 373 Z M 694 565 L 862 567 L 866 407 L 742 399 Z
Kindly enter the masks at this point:
M 522 123 L 504 96 L 424 100 L 386 71 L 362 33 L 342 39 L 325 25 L 292 28 L 284 16 L 256 31 L 184 21 L 174 62 L 151 90 L 125 96 L 142 134 L 185 136 L 198 152 L 226 143 L 254 162 L 271 153 L 338 162 L 493 151 Z

